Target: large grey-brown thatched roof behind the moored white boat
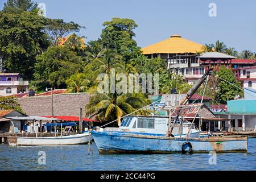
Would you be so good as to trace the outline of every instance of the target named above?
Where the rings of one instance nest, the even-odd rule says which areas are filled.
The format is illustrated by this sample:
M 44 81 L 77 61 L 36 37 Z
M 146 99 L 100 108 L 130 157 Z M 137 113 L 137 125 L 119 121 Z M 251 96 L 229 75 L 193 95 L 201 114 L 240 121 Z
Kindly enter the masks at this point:
M 88 104 L 91 94 L 65 93 L 53 95 L 54 115 L 73 115 L 79 117 L 80 108 L 85 117 L 85 105 Z M 51 96 L 35 96 L 19 98 L 20 106 L 27 115 L 51 115 Z

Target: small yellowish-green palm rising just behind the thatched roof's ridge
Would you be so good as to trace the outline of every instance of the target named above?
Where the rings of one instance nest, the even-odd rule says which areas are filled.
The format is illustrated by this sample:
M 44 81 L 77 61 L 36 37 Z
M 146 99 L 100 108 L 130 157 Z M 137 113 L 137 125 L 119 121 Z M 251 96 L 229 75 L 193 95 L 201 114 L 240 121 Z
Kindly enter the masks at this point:
M 89 89 L 90 80 L 83 73 L 77 73 L 76 75 L 72 75 L 66 81 L 66 84 L 68 93 L 79 93 Z

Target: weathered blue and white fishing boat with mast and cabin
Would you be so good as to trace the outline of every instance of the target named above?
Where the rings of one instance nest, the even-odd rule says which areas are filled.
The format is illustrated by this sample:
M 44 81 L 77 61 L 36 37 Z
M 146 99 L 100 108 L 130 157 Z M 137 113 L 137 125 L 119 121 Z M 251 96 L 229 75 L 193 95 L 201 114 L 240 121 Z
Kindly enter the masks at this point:
M 188 102 L 189 98 L 196 92 L 201 84 L 207 78 L 209 72 L 204 74 L 192 88 L 188 91 L 187 96 L 181 101 L 181 106 Z M 207 83 L 205 84 L 206 88 Z M 205 89 L 204 89 L 205 91 Z M 203 98 L 201 100 L 201 104 Z M 199 112 L 201 106 L 197 110 Z M 196 113 L 196 115 L 197 115 Z M 183 135 L 183 127 L 185 123 L 181 121 L 179 132 L 175 133 L 174 123 L 180 118 L 179 110 L 176 117 L 126 117 L 118 129 L 100 129 L 99 131 L 91 131 L 94 142 L 100 153 L 189 153 L 192 152 L 247 152 L 247 137 L 240 136 L 222 136 L 222 137 L 204 137 L 192 138 L 192 126 L 195 118 L 187 131 L 186 137 Z M 168 122 L 167 130 L 164 127 Z M 182 131 L 182 132 L 181 132 Z M 180 137 L 175 137 L 179 134 Z

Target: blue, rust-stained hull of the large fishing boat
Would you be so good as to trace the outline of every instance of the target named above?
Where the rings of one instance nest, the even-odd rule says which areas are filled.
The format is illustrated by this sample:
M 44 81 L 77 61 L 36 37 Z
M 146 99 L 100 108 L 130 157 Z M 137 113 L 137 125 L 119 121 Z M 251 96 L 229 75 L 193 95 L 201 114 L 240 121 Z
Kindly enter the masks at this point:
M 247 137 L 173 138 L 156 135 L 139 135 L 92 131 L 94 142 L 102 153 L 170 154 L 182 152 L 185 142 L 192 145 L 194 153 L 246 152 Z

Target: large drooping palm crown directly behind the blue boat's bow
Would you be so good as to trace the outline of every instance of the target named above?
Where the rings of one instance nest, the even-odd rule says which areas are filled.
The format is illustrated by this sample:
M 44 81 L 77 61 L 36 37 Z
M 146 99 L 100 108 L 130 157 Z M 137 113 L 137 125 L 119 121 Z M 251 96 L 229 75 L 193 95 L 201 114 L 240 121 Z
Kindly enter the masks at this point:
M 90 98 L 89 104 L 85 106 L 86 115 L 96 117 L 100 121 L 114 121 L 138 110 L 134 114 L 148 113 L 142 107 L 151 103 L 145 94 L 96 94 Z

